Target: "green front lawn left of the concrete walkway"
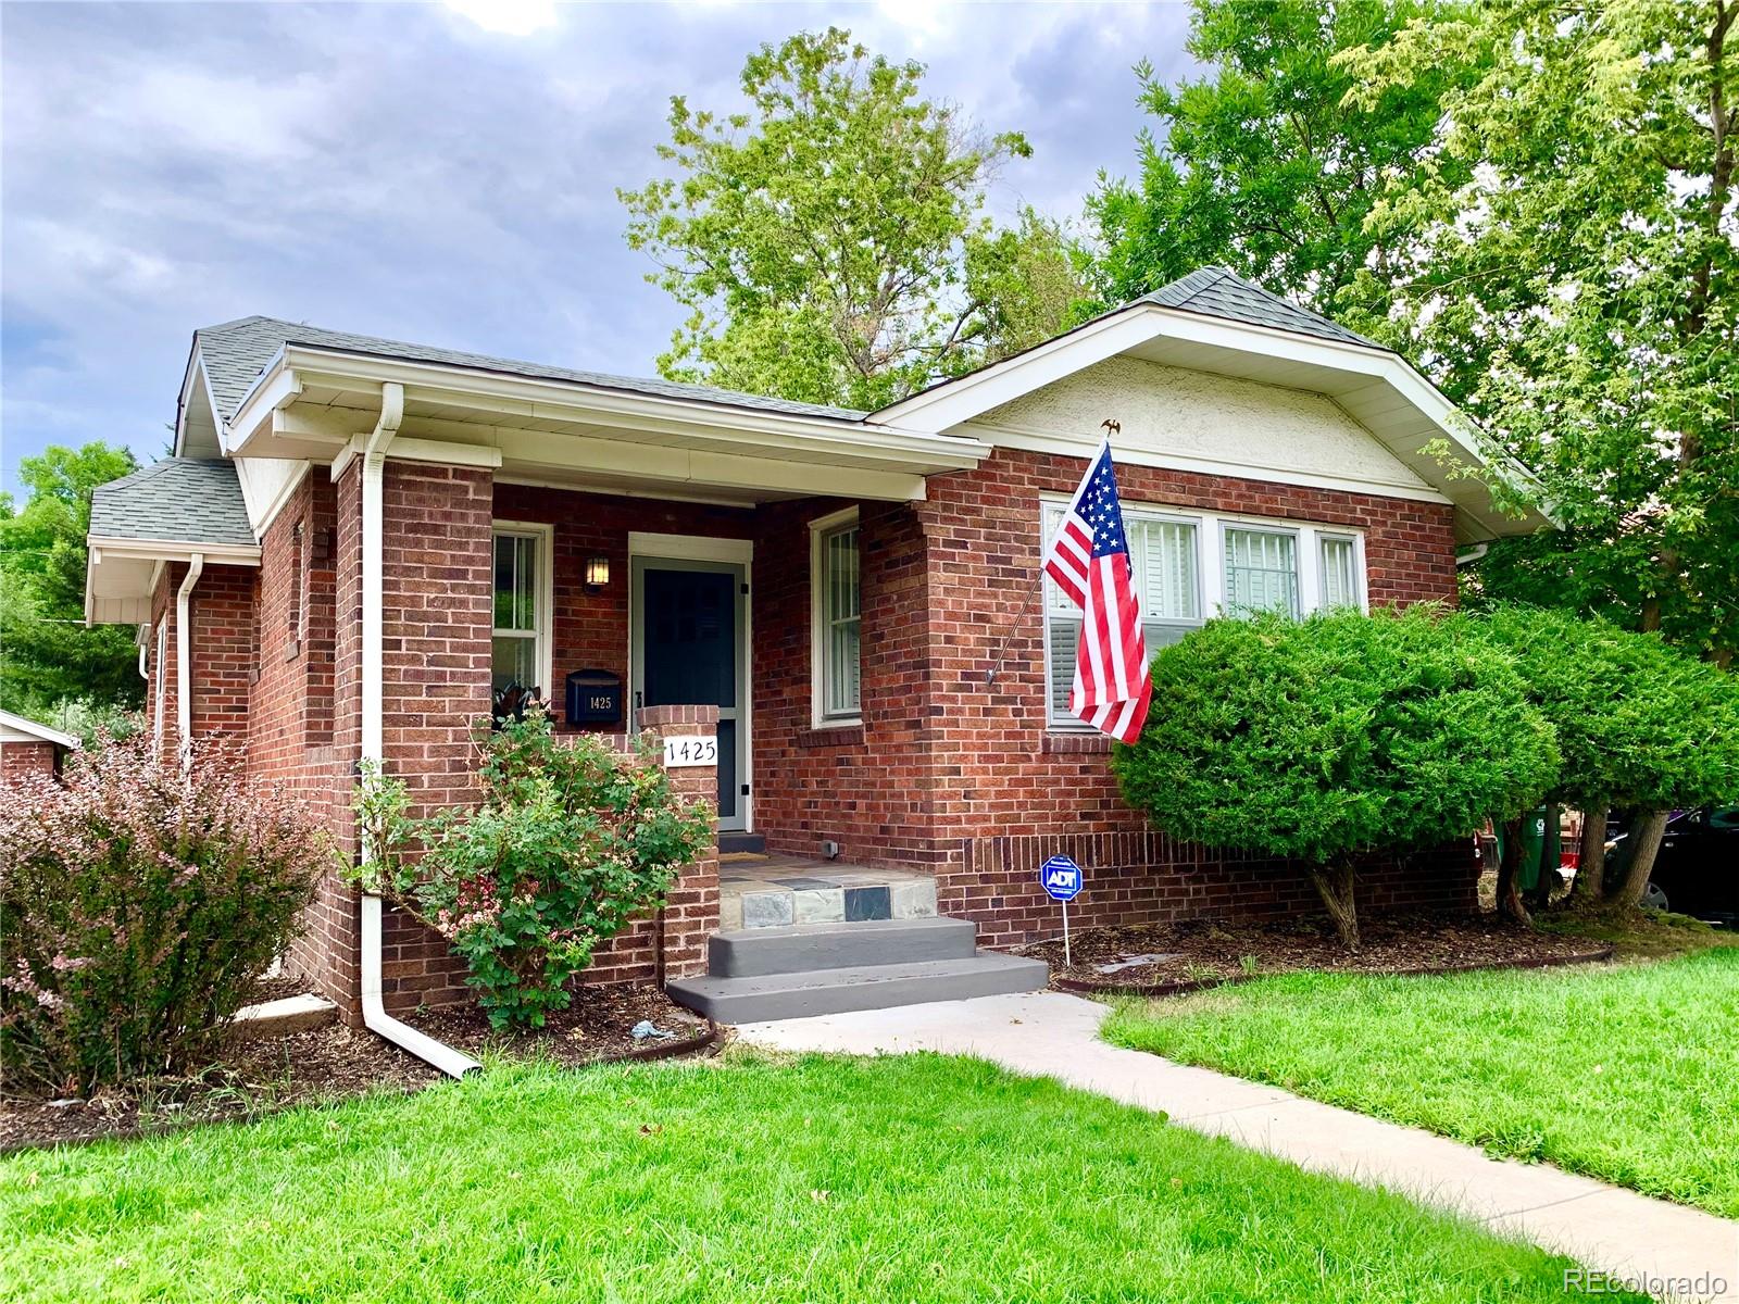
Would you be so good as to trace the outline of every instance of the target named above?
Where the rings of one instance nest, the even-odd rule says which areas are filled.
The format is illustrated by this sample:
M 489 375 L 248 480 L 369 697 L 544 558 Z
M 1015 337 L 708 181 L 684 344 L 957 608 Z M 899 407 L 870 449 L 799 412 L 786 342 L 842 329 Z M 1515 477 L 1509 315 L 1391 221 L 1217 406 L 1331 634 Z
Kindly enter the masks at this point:
M 1560 1301 L 1567 1261 L 965 1059 L 494 1069 L 0 1161 L 7 1301 Z

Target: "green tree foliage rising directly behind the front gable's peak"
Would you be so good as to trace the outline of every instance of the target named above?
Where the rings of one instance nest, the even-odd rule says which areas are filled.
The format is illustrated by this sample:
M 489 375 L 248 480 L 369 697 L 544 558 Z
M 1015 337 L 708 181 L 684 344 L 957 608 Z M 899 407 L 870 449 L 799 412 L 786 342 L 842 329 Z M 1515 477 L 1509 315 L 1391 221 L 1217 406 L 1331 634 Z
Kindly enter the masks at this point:
M 1429 0 L 1195 0 L 1189 54 L 1209 71 L 1169 85 L 1136 68 L 1153 127 L 1136 183 L 1101 177 L 1087 200 L 1103 254 L 1101 306 L 1127 303 L 1207 264 L 1309 301 L 1391 343 L 1403 264 L 1367 217 L 1391 176 L 1431 144 L 1456 66 L 1351 103 L 1341 50 L 1381 45 Z

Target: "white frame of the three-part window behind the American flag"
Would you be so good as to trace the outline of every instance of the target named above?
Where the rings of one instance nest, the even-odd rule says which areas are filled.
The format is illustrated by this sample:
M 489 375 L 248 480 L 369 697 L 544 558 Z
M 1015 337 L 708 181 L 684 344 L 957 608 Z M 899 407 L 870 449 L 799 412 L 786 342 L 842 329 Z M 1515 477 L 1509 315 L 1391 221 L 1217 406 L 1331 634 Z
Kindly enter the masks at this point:
M 1056 509 L 1068 509 L 1069 499 L 1045 494 L 1038 502 L 1038 537 L 1040 546 L 1050 546 L 1050 525 L 1047 516 Z M 1299 522 L 1276 516 L 1252 516 L 1231 511 L 1188 511 L 1160 502 L 1123 501 L 1123 515 L 1136 522 L 1170 522 L 1195 525 L 1196 542 L 1196 610 L 1202 614 L 1198 624 L 1226 614 L 1226 530 L 1266 530 L 1269 534 L 1294 536 L 1294 556 L 1299 577 L 1299 615 L 1325 610 L 1322 595 L 1320 541 L 1353 541 L 1353 582 L 1358 588 L 1358 610 L 1370 610 L 1370 584 L 1365 567 L 1365 532 L 1349 525 L 1323 525 L 1320 522 Z M 1209 553 L 1212 548 L 1212 553 Z M 1045 727 L 1056 732 L 1082 730 L 1092 727 L 1068 713 L 1068 708 L 1054 704 L 1050 683 L 1050 622 L 1063 612 L 1052 607 L 1052 581 L 1043 581 L 1042 626 L 1043 626 L 1043 685 L 1045 685 Z M 1143 624 L 1188 624 L 1184 621 L 1143 621 Z M 1151 650 L 1149 650 L 1151 652 Z

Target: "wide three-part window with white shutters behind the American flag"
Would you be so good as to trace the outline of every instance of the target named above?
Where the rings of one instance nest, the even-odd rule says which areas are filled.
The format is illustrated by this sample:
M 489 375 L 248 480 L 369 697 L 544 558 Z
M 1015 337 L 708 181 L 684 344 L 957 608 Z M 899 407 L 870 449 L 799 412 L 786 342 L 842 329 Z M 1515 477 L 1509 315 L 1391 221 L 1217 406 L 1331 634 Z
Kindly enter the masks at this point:
M 1043 508 L 1047 548 L 1063 513 L 1063 502 Z M 1130 502 L 1123 502 L 1123 530 L 1148 655 L 1176 643 L 1209 615 L 1275 610 L 1297 617 L 1365 603 L 1365 549 L 1353 530 Z M 1047 577 L 1047 718 L 1056 727 L 1083 727 L 1069 715 L 1080 631 L 1080 609 Z

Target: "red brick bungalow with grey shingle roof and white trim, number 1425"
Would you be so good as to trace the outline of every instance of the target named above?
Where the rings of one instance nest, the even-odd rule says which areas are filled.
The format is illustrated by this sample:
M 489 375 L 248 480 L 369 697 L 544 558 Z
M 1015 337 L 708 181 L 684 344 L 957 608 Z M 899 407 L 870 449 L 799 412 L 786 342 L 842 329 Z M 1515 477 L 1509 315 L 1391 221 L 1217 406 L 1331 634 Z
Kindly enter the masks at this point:
M 97 490 L 87 614 L 139 626 L 165 751 L 231 734 L 344 836 L 360 758 L 471 800 L 473 722 L 520 682 L 619 744 L 716 735 L 676 774 L 727 850 L 916 880 L 991 946 L 1056 930 L 1056 850 L 1078 925 L 1313 908 L 1148 831 L 1064 709 L 1078 619 L 1038 560 L 1108 419 L 1149 649 L 1221 610 L 1454 602 L 1457 544 L 1541 525 L 1429 456 L 1478 459 L 1405 360 L 1217 268 L 868 414 L 250 316 L 195 334 L 176 456 Z M 567 720 L 576 671 L 621 708 Z M 1471 904 L 1471 847 L 1367 899 Z M 334 880 L 294 956 L 351 1007 L 360 918 Z M 593 977 L 694 974 L 718 927 L 708 857 Z M 388 1007 L 463 995 L 409 920 L 383 963 Z

